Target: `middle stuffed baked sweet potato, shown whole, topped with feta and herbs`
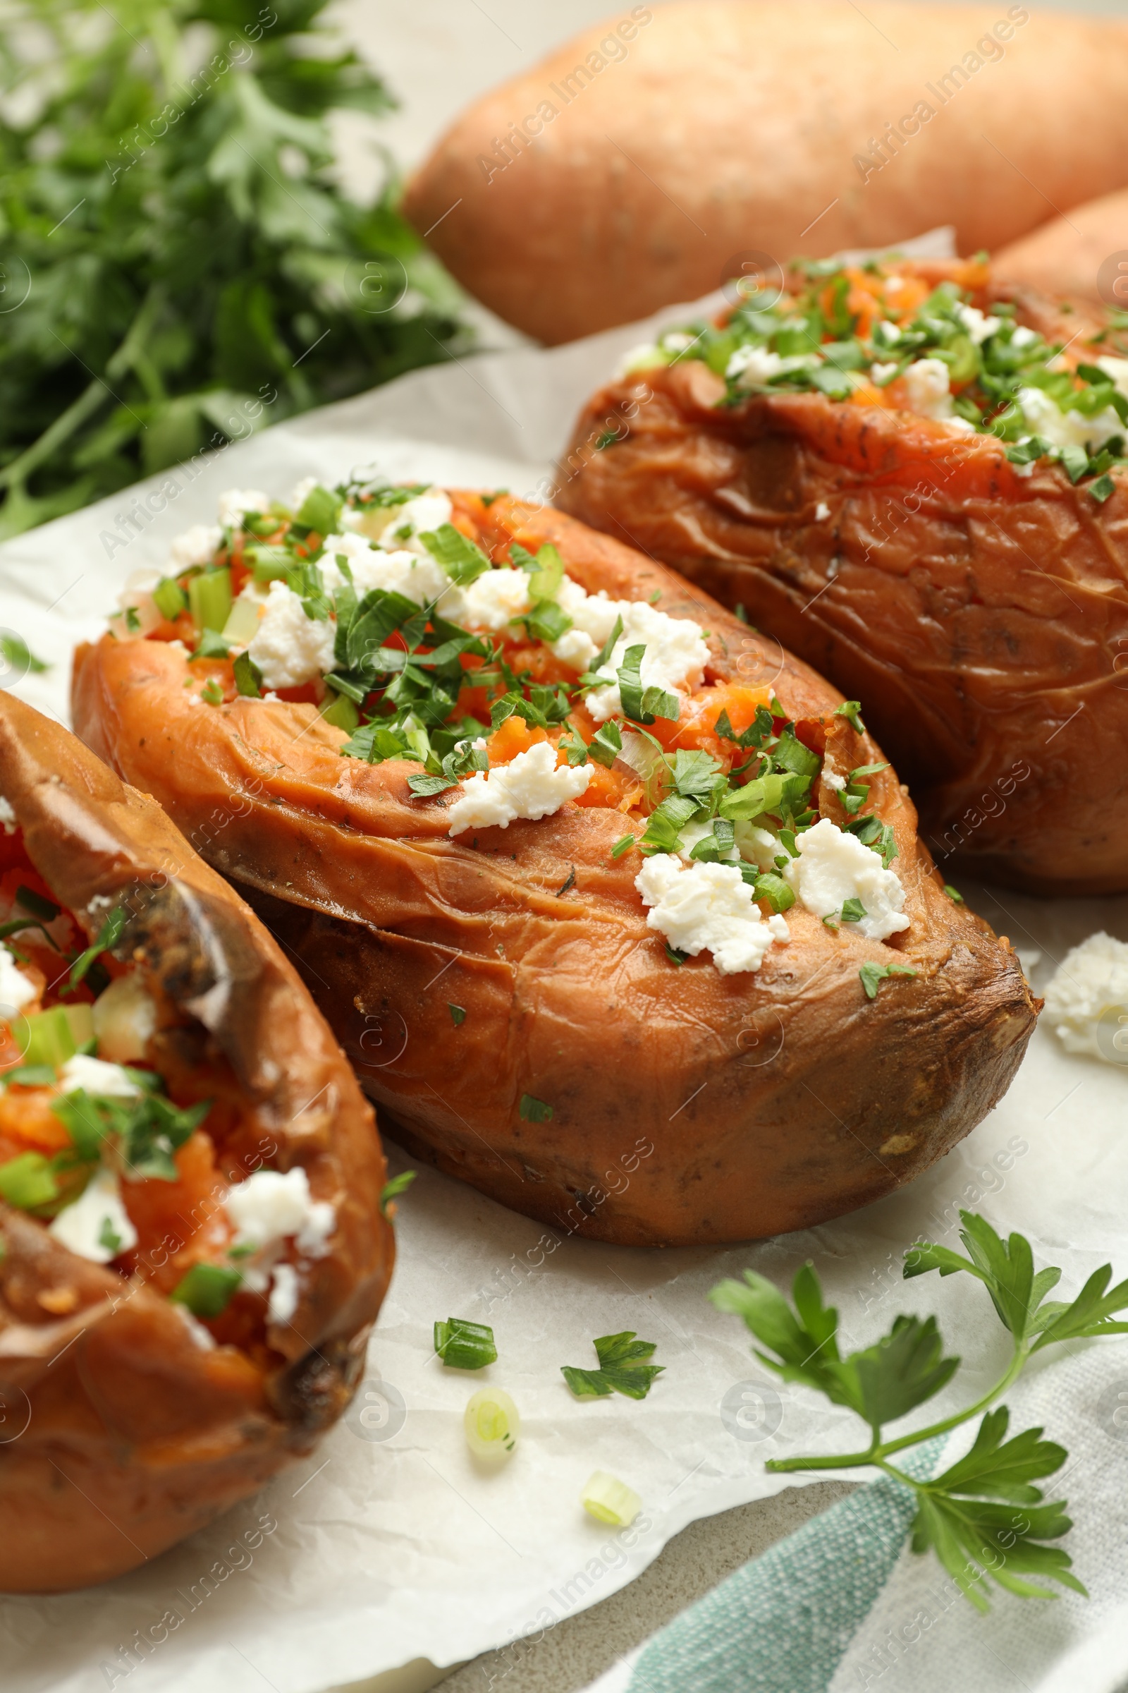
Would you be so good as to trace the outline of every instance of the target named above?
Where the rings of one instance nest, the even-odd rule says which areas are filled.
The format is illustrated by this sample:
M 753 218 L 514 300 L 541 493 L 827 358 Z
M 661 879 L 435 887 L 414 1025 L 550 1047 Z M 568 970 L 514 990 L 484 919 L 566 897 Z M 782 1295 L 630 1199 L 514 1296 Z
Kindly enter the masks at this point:
M 294 506 L 233 493 L 135 582 L 74 721 L 291 948 L 413 1155 L 704 1243 L 866 1204 L 983 1117 L 1035 1006 L 856 706 L 560 513 Z

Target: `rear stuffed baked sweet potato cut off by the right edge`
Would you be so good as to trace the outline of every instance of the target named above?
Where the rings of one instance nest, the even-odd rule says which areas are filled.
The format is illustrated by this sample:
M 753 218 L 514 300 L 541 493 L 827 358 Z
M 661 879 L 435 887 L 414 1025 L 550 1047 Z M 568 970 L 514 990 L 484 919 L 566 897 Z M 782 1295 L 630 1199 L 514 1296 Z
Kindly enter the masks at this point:
M 859 698 L 945 867 L 1128 887 L 1118 332 L 981 262 L 815 266 L 626 362 L 560 505 Z

